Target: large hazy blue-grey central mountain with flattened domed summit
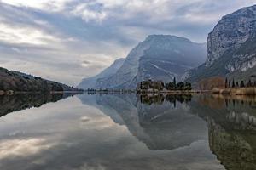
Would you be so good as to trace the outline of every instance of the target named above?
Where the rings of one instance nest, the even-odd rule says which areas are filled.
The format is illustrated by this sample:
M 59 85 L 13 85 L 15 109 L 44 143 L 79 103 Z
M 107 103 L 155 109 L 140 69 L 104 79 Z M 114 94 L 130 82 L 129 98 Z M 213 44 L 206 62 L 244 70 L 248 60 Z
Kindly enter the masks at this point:
M 96 83 L 96 88 L 136 88 L 143 80 L 177 81 L 185 71 L 200 65 L 207 49 L 205 43 L 170 35 L 151 35 L 140 42 L 111 77 Z

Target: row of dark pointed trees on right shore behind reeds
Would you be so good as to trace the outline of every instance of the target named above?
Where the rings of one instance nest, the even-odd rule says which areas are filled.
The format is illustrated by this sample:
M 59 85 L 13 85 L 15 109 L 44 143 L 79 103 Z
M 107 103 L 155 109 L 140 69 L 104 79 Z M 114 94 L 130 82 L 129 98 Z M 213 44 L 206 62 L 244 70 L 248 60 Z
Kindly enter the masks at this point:
M 256 81 L 252 81 L 251 79 L 248 82 L 244 81 L 235 81 L 234 79 L 230 82 L 228 78 L 225 79 L 225 88 L 256 88 Z

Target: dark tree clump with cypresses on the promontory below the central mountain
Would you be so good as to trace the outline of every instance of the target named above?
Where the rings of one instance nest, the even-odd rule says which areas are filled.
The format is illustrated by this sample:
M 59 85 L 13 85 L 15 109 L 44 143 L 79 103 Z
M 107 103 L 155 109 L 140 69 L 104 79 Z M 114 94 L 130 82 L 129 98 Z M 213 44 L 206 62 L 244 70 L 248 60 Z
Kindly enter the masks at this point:
M 176 82 L 174 77 L 172 82 L 161 82 L 161 81 L 143 81 L 137 85 L 137 90 L 191 90 L 192 86 L 189 82 Z

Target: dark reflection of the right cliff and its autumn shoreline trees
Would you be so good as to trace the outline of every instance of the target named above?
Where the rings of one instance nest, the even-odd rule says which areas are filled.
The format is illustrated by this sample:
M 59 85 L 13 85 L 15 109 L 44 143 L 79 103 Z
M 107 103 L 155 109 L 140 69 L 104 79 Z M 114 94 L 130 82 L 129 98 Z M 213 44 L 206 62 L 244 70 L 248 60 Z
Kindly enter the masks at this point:
M 256 100 L 201 96 L 193 113 L 207 121 L 212 152 L 231 170 L 256 169 Z

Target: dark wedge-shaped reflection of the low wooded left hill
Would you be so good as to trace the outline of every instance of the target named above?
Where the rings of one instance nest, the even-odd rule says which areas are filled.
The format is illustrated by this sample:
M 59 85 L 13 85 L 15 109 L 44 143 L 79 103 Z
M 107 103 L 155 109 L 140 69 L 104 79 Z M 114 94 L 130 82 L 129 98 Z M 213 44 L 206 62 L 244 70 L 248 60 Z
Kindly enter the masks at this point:
M 40 107 L 49 102 L 56 102 L 72 94 L 15 94 L 0 95 L 0 116 L 13 111 L 21 111 L 31 107 Z

